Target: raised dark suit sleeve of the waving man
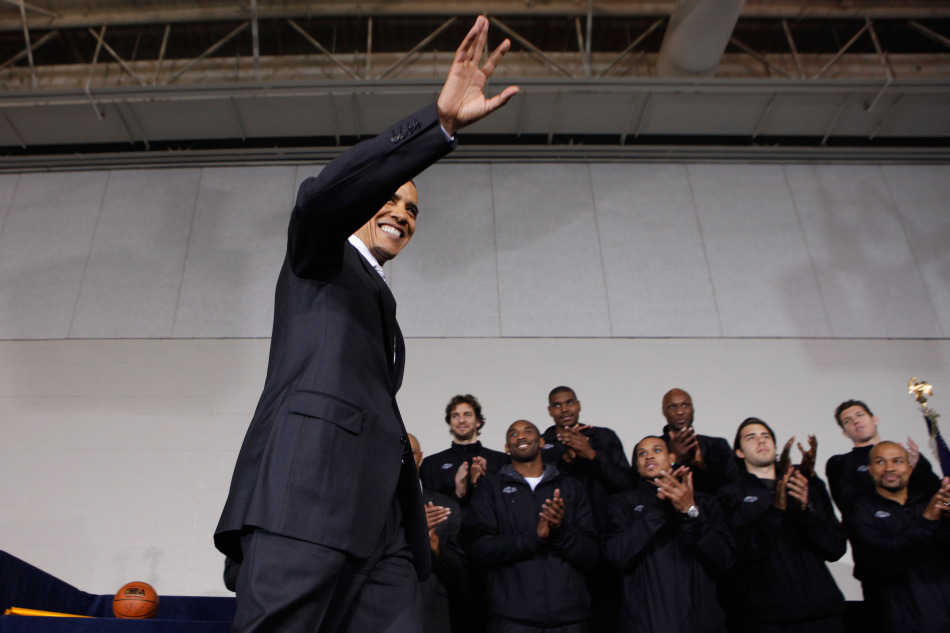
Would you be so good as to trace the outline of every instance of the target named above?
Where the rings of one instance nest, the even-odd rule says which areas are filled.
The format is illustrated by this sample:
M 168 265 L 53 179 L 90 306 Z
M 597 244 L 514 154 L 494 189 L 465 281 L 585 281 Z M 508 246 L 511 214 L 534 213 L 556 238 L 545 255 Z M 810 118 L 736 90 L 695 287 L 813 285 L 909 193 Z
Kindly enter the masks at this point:
M 433 104 L 379 136 L 353 146 L 306 179 L 297 192 L 287 252 L 298 277 L 325 278 L 339 270 L 346 239 L 403 184 L 449 153 Z

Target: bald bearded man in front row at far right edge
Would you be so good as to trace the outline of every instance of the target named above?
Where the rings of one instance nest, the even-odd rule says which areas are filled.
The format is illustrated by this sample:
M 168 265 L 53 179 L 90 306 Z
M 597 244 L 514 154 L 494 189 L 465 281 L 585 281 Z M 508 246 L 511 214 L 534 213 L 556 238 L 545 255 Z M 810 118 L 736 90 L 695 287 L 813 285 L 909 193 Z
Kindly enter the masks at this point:
M 894 633 L 950 631 L 950 477 L 932 496 L 912 490 L 910 456 L 886 441 L 871 449 L 868 472 L 874 490 L 844 520 L 871 621 Z

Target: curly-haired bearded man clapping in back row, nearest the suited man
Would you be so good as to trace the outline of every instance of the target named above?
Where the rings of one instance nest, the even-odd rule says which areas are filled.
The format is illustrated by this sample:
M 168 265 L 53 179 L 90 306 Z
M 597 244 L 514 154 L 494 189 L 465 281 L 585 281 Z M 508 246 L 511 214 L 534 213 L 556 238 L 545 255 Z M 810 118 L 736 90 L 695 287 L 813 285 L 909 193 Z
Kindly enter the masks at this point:
M 422 487 L 453 496 L 467 506 L 472 490 L 482 477 L 497 473 L 508 463 L 508 457 L 485 448 L 478 441 L 485 416 L 481 403 L 472 394 L 459 394 L 449 400 L 445 406 L 445 423 L 452 434 L 452 445 L 422 460 L 419 467 Z

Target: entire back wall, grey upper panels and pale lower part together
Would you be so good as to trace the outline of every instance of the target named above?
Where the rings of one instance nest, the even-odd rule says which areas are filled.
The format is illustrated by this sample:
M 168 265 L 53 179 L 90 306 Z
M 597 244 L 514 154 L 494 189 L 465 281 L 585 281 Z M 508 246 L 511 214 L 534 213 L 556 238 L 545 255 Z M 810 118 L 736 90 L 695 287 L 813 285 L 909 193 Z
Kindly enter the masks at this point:
M 314 171 L 0 176 L 0 549 L 87 591 L 223 593 L 211 533 Z M 446 163 L 418 182 L 387 275 L 427 452 L 458 392 L 495 448 L 568 384 L 629 451 L 680 386 L 704 432 L 757 415 L 818 433 L 821 461 L 848 448 L 844 399 L 918 442 L 907 380 L 947 408 L 950 166 Z

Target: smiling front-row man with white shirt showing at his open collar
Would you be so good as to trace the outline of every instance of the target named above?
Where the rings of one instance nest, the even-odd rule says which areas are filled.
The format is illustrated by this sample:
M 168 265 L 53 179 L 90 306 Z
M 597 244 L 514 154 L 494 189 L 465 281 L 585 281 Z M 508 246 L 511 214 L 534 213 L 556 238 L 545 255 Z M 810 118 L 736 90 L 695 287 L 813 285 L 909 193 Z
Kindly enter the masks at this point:
M 508 427 L 511 462 L 485 477 L 465 516 L 472 561 L 485 569 L 489 633 L 586 633 L 583 572 L 597 534 L 581 485 L 541 461 L 544 440 L 527 420 Z

